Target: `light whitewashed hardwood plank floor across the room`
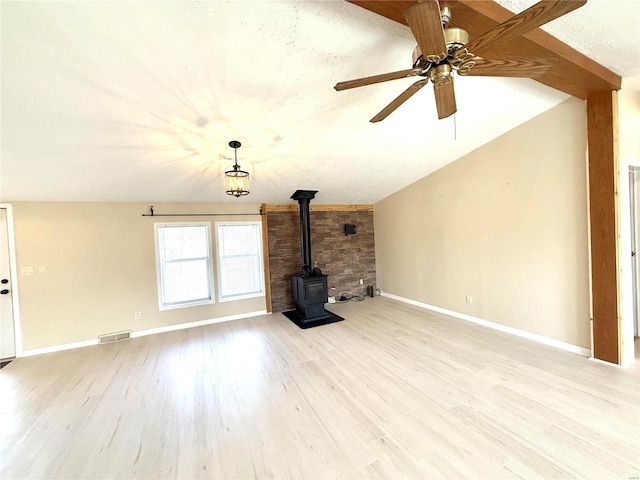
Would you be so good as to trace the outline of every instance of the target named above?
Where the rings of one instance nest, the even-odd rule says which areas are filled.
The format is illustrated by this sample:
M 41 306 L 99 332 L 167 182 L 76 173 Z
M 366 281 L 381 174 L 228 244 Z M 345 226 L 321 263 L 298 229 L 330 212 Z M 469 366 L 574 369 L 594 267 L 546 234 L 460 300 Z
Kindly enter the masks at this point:
M 388 298 L 20 358 L 0 477 L 640 475 L 640 370 Z

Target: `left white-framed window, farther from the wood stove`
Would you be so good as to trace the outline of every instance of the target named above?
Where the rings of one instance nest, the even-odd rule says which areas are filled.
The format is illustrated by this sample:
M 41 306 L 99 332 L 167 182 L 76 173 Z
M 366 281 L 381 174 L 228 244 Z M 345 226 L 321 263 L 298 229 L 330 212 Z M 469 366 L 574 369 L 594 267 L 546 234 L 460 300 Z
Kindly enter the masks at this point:
M 209 223 L 156 223 L 160 310 L 213 303 Z

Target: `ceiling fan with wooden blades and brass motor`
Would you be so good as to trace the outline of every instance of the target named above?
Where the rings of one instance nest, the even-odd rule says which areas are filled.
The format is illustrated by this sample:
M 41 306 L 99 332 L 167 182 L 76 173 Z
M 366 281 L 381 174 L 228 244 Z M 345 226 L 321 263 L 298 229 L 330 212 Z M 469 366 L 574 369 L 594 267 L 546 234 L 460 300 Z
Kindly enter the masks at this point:
M 421 0 L 402 12 L 418 43 L 413 51 L 413 67 L 408 70 L 339 82 L 334 88 L 340 91 L 399 78 L 424 77 L 384 107 L 371 119 L 371 122 L 379 122 L 387 118 L 429 83 L 429 80 L 433 83 L 438 118 L 446 118 L 457 110 L 453 90 L 453 72 L 458 72 L 459 75 L 492 77 L 535 78 L 543 75 L 553 67 L 556 59 L 491 60 L 483 58 L 482 55 L 495 49 L 499 44 L 524 35 L 585 3 L 587 0 L 542 0 L 479 37 L 469 40 L 465 30 L 449 27 L 451 21 L 449 6 L 443 6 L 441 9 L 438 0 Z

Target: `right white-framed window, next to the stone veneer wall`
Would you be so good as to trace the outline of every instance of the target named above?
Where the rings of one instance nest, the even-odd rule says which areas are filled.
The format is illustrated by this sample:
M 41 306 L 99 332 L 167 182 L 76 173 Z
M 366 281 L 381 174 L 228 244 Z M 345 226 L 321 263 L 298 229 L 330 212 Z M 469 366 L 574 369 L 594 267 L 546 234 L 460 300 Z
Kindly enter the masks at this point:
M 220 301 L 264 295 L 260 222 L 216 223 Z

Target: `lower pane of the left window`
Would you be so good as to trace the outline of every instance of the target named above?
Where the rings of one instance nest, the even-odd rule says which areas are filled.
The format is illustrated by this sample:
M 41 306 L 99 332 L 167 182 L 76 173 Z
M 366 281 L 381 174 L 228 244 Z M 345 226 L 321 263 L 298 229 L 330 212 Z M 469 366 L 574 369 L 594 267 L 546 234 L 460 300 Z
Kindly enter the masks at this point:
M 167 263 L 164 267 L 164 303 L 208 299 L 207 270 L 206 260 Z

